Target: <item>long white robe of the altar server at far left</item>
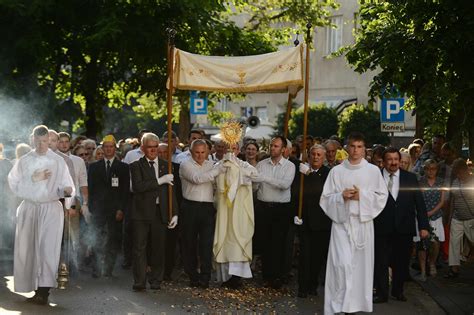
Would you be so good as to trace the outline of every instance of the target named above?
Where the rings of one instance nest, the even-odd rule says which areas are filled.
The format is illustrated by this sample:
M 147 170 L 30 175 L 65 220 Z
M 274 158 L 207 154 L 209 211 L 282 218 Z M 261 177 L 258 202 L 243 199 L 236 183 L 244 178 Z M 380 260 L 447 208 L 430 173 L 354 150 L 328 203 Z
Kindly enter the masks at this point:
M 33 182 L 37 170 L 49 170 L 50 178 Z M 74 182 L 64 159 L 48 150 L 31 151 L 10 171 L 8 182 L 23 202 L 17 209 L 13 276 L 16 292 L 56 287 L 64 213 L 60 197 Z

